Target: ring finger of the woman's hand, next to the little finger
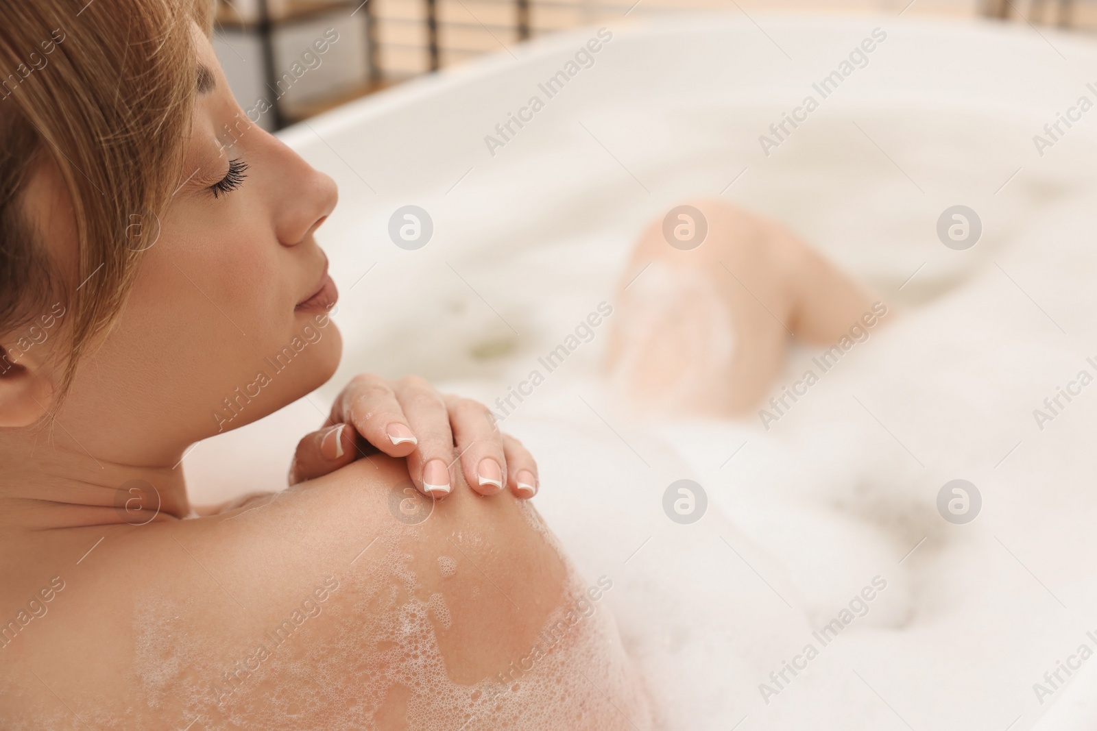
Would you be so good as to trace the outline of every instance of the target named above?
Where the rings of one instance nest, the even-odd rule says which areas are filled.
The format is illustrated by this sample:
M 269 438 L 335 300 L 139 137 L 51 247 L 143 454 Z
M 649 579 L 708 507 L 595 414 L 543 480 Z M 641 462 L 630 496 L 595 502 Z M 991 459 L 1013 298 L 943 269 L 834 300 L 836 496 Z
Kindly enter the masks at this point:
M 502 432 L 483 403 L 460 396 L 442 397 L 450 411 L 453 442 L 461 455 L 461 469 L 473 490 L 482 495 L 501 492 L 507 484 L 507 457 Z

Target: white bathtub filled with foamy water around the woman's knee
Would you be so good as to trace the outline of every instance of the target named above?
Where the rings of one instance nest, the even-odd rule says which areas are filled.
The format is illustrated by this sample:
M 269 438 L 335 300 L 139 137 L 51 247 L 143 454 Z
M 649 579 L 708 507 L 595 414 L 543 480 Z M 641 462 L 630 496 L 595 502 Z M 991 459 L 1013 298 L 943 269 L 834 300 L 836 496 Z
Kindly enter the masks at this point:
M 538 84 L 598 28 L 285 130 L 339 183 L 318 238 L 341 292 L 346 356 L 307 400 L 199 445 L 185 461 L 194 496 L 282 484 L 296 439 L 355 372 L 506 396 L 612 301 L 642 226 L 681 198 L 722 196 L 782 218 L 921 313 L 870 341 L 770 432 L 756 420 L 631 419 L 596 377 L 604 325 L 507 420 L 539 456 L 550 524 L 580 567 L 614 579 L 609 602 L 665 727 L 1095 728 L 1097 661 L 1043 703 L 1033 683 L 1081 642 L 1097 649 L 1085 635 L 1097 607 L 1085 481 L 1097 399 L 1079 399 L 1055 441 L 1029 412 L 1097 343 L 1083 216 L 1097 111 L 1043 156 L 1032 139 L 1079 95 L 1097 99 L 1085 85 L 1097 81 L 1097 46 L 1022 26 L 755 20 L 613 24 L 593 65 L 552 99 Z M 759 136 L 806 94 L 819 99 L 813 82 L 878 27 L 886 38 L 868 65 L 767 156 Z M 493 155 L 485 137 L 534 94 L 544 108 Z M 409 204 L 434 227 L 417 251 L 387 232 Z M 955 204 L 984 226 L 969 251 L 935 232 Z M 1077 251 L 1042 255 L 1041 235 L 1076 239 Z M 681 477 L 711 501 L 691 526 L 660 505 Z M 932 511 L 955 477 L 983 487 L 984 514 L 968 526 Z M 878 574 L 890 593 L 764 699 L 769 673 Z

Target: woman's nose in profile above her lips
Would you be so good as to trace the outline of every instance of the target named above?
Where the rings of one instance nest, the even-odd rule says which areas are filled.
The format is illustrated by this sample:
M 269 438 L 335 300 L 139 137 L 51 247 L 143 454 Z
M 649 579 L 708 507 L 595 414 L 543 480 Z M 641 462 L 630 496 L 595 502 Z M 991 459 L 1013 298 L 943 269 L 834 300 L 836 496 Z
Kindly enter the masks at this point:
M 276 138 L 279 161 L 274 174 L 279 195 L 274 212 L 278 240 L 283 247 L 306 241 L 331 214 L 339 201 L 339 189 L 329 175 L 314 169 Z

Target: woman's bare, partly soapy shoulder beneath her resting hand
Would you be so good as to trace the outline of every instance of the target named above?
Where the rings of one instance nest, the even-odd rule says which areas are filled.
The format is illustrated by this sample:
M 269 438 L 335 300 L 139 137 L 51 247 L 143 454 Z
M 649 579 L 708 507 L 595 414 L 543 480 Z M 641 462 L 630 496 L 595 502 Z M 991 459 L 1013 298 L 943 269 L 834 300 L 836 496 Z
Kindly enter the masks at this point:
M 18 678 L 0 673 L 11 728 L 32 708 L 57 729 L 327 728 L 332 709 L 405 728 L 425 687 L 430 718 L 498 706 L 486 689 L 585 601 L 528 503 L 464 484 L 434 503 L 383 457 L 230 513 L 102 533 L 9 655 Z M 612 624 L 597 628 L 583 641 L 621 665 Z

